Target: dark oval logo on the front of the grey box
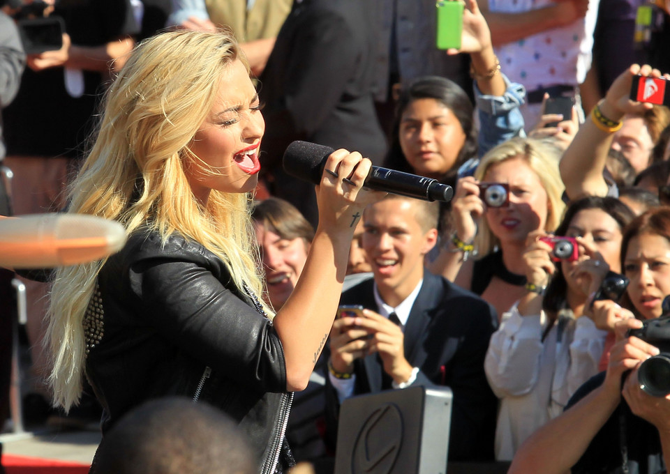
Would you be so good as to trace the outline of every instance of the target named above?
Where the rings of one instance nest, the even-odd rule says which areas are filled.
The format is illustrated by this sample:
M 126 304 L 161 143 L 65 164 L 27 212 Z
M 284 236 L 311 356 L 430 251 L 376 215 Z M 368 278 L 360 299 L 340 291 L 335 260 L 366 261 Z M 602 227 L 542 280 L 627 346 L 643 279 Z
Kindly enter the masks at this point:
M 403 416 L 395 404 L 371 413 L 357 434 L 351 459 L 352 474 L 390 474 L 403 441 Z

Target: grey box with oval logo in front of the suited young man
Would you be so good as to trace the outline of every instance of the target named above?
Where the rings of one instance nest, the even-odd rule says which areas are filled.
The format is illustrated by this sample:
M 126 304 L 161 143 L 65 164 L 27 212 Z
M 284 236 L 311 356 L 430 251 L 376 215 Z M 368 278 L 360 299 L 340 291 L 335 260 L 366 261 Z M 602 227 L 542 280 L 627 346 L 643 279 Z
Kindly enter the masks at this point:
M 448 387 L 346 399 L 335 474 L 446 474 L 452 399 Z

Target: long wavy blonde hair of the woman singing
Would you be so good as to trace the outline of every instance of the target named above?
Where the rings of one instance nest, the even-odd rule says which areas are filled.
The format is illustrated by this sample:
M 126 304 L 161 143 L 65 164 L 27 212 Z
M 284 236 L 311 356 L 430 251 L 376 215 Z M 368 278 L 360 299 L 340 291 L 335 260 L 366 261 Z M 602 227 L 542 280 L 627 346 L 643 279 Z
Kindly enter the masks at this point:
M 117 220 L 127 234 L 148 226 L 164 243 L 174 232 L 196 240 L 221 258 L 239 288 L 246 282 L 260 295 L 251 195 L 212 190 L 203 208 L 184 174 L 186 166 L 202 167 L 188 145 L 238 59 L 248 68 L 223 31 L 171 31 L 138 45 L 105 95 L 96 140 L 70 186 L 69 212 Z M 54 278 L 45 345 L 54 404 L 66 409 L 82 392 L 82 321 L 103 263 L 59 268 Z

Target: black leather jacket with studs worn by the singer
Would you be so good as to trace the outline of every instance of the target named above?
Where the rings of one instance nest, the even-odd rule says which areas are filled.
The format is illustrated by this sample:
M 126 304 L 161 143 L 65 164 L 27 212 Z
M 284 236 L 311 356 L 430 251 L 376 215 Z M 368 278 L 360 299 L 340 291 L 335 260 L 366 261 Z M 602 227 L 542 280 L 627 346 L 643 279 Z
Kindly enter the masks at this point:
M 84 318 L 86 374 L 105 410 L 103 433 L 148 399 L 193 397 L 237 420 L 260 472 L 276 472 L 292 393 L 281 342 L 259 311 L 202 245 L 133 234 L 103 266 Z

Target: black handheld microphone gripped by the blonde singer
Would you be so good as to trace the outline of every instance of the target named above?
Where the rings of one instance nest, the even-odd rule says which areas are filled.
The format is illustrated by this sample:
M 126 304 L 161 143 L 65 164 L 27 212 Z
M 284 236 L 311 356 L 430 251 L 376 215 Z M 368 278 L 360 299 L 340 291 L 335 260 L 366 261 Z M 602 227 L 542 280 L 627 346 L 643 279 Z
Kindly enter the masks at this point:
M 321 183 L 326 159 L 333 148 L 310 142 L 292 142 L 284 152 L 284 171 L 295 178 Z M 373 166 L 365 178 L 364 186 L 375 191 L 386 191 L 424 201 L 449 202 L 454 197 L 451 186 L 416 174 Z

